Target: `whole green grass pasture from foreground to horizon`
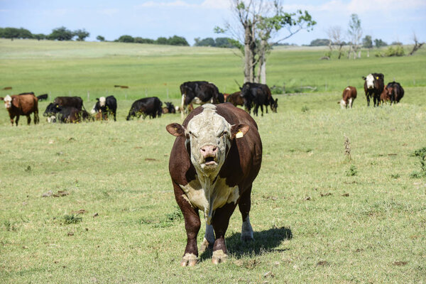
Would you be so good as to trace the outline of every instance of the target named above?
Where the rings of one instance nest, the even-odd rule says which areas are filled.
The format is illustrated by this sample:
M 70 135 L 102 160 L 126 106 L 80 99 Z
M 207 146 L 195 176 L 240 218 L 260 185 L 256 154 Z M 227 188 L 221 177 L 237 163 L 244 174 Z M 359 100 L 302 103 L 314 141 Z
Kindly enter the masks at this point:
M 174 137 L 165 131 L 180 115 L 125 117 L 146 94 L 178 103 L 186 80 L 234 92 L 239 58 L 217 48 L 0 40 L 0 87 L 13 94 L 79 95 L 88 110 L 95 97 L 118 99 L 116 122 L 47 124 L 41 102 L 40 124 L 21 117 L 11 127 L 1 107 L 0 282 L 425 283 L 426 178 L 415 177 L 413 156 L 426 147 L 425 49 L 340 62 L 318 60 L 324 51 L 279 48 L 268 60 L 268 84 L 293 80 L 320 92 L 274 95 L 278 113 L 255 118 L 263 141 L 256 240 L 241 243 L 236 210 L 228 262 L 214 266 L 207 251 L 195 268 L 180 268 L 186 235 L 168 175 Z M 368 72 L 401 82 L 401 103 L 367 108 Z M 347 84 L 358 98 L 342 110 Z

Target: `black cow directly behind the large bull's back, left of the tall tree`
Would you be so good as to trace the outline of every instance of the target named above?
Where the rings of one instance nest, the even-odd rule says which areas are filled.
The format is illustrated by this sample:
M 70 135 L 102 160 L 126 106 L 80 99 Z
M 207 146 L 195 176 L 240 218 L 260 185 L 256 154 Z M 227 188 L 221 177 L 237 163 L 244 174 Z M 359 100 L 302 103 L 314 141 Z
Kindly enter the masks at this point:
M 180 85 L 182 94 L 182 104 L 180 107 L 187 112 L 187 107 L 192 104 L 218 104 L 224 102 L 224 95 L 219 93 L 219 89 L 207 81 L 184 82 Z M 183 112 L 182 112 L 183 116 Z

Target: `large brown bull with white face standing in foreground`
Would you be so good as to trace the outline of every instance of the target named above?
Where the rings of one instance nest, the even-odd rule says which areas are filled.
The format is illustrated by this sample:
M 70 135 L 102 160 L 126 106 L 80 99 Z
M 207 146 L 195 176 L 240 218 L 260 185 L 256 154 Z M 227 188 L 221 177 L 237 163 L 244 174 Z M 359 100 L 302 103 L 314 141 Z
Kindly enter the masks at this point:
M 251 116 L 232 104 L 204 104 L 183 124 L 169 124 L 177 136 L 170 153 L 169 170 L 185 219 L 187 246 L 181 266 L 197 263 L 197 234 L 206 220 L 200 251 L 213 246 L 212 262 L 226 261 L 225 233 L 236 205 L 242 215 L 241 240 L 253 239 L 249 212 L 251 186 L 261 169 L 262 142 Z

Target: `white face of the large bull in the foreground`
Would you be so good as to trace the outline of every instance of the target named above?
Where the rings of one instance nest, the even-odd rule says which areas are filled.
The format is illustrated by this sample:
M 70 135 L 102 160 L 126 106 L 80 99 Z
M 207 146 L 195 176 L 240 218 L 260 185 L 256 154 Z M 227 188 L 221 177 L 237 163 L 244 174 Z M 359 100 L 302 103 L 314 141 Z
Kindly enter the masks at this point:
M 215 112 L 214 105 L 204 104 L 203 108 L 190 120 L 185 133 L 192 164 L 205 175 L 215 175 L 224 164 L 226 148 L 231 147 L 231 124 Z

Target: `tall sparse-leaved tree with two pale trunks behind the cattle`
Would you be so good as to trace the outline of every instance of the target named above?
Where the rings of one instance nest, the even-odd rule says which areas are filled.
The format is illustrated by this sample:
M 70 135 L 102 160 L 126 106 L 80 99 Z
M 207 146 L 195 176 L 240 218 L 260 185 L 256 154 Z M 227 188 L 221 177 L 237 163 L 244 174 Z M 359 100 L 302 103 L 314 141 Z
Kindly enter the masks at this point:
M 316 24 L 307 11 L 285 13 L 280 0 L 231 0 L 231 11 L 238 25 L 232 26 L 228 22 L 224 29 L 215 28 L 215 31 L 229 33 L 233 44 L 243 53 L 244 82 L 266 83 L 266 58 L 272 46 L 302 29 L 309 31 Z M 282 28 L 288 33 L 278 38 Z

